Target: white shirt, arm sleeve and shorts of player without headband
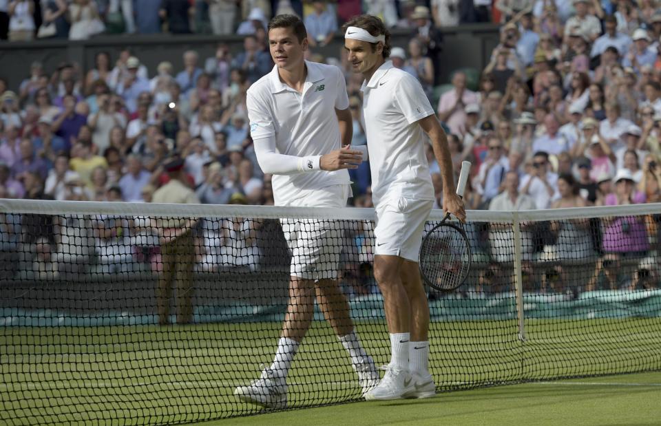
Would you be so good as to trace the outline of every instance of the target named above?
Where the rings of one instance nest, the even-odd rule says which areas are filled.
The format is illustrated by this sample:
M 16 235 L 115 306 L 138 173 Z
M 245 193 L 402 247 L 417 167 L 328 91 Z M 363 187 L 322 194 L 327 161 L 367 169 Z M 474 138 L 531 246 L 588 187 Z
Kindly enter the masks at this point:
M 350 191 L 348 171 L 321 171 L 319 158 L 340 148 L 335 109 L 349 106 L 346 83 L 338 67 L 305 64 L 302 94 L 280 81 L 277 66 L 248 89 L 255 152 L 264 173 L 273 173 L 276 206 L 344 207 Z M 292 162 L 293 167 L 288 167 Z M 291 275 L 315 280 L 337 277 L 341 244 L 336 222 L 280 222 L 292 253 Z

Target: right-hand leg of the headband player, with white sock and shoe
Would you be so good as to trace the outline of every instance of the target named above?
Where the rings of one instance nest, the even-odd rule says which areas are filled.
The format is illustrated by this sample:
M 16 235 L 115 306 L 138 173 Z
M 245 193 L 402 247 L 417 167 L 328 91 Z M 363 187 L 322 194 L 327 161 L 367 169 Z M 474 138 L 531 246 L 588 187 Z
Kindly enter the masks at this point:
M 413 375 L 413 387 L 415 388 L 406 396 L 429 398 L 436 394 L 436 385 L 429 372 L 429 303 L 417 262 L 404 259 L 401 266 L 401 281 L 411 306 L 411 341 L 408 345 L 408 365 Z

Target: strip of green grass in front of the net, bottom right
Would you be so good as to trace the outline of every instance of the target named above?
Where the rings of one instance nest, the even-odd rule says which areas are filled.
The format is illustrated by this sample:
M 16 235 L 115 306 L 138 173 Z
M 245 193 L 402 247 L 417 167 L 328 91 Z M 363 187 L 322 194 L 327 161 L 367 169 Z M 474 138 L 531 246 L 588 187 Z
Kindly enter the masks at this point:
M 526 383 L 412 401 L 361 402 L 211 425 L 658 425 L 661 372 Z

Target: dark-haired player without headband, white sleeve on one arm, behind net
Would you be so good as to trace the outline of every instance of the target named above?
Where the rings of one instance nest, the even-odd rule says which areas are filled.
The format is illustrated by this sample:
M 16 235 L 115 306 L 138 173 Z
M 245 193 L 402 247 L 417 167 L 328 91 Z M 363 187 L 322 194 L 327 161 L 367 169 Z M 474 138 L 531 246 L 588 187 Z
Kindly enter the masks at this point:
M 353 123 L 346 83 L 339 68 L 304 61 L 308 41 L 302 21 L 278 15 L 269 23 L 275 67 L 247 94 L 255 153 L 264 173 L 273 174 L 277 206 L 346 206 L 350 180 L 366 149 L 351 149 Z M 289 303 L 273 363 L 260 379 L 234 394 L 265 407 L 286 406 L 286 376 L 319 308 L 350 355 L 363 394 L 379 372 L 355 333 L 346 297 L 337 285 L 341 247 L 333 222 L 282 220 L 292 252 Z

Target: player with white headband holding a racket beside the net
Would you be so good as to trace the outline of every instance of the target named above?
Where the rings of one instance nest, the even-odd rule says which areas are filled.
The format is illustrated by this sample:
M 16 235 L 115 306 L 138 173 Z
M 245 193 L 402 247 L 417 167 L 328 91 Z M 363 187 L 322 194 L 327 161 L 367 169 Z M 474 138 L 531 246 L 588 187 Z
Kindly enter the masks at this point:
M 345 24 L 344 46 L 365 77 L 363 115 L 376 211 L 374 273 L 384 297 L 391 358 L 368 400 L 435 394 L 428 368 L 429 306 L 418 269 L 423 226 L 434 203 L 425 156 L 430 137 L 443 175 L 443 211 L 465 220 L 454 190 L 448 140 L 417 79 L 392 67 L 390 33 L 372 15 Z

